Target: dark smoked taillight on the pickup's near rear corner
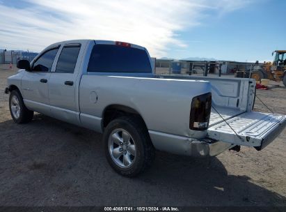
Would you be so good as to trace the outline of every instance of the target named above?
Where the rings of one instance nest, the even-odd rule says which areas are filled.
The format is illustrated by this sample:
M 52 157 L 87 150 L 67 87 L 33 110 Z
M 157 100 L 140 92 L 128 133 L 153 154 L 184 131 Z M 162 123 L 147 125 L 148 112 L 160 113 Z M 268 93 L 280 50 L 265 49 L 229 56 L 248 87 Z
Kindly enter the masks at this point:
M 207 130 L 212 109 L 212 93 L 196 96 L 191 101 L 190 129 Z

